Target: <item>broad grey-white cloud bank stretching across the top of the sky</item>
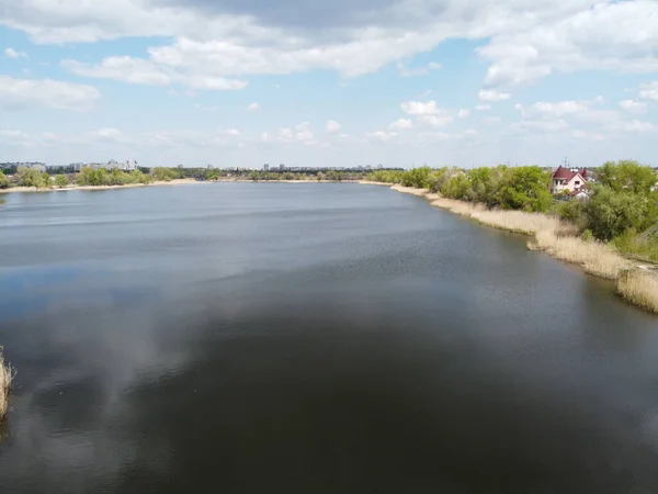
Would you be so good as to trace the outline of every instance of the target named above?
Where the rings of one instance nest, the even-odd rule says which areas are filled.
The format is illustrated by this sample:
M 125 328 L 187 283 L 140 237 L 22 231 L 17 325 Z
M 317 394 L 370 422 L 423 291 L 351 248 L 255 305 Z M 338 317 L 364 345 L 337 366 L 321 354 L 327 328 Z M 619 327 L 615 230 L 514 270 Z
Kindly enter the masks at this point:
M 337 1 L 23 0 L 7 5 L 0 23 L 37 43 L 171 38 L 135 61 L 157 66 L 155 75 L 138 79 L 161 83 L 179 74 L 183 81 L 200 77 L 201 87 L 227 89 L 237 89 L 247 75 L 370 74 L 449 38 L 487 40 L 479 48 L 490 63 L 486 91 L 556 71 L 651 74 L 658 68 L 658 4 L 651 0 Z M 105 68 L 112 58 L 92 67 Z M 402 68 L 409 75 L 419 70 Z M 435 68 L 428 65 L 420 72 Z

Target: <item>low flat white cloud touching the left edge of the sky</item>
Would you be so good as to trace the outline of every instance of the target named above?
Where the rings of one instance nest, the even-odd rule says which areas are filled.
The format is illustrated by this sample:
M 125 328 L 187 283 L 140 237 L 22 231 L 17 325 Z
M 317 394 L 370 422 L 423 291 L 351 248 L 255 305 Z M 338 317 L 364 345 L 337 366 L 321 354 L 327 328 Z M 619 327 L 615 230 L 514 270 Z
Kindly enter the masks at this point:
M 100 96 L 91 86 L 50 79 L 14 79 L 0 75 L 0 106 L 5 110 L 32 106 L 88 111 Z

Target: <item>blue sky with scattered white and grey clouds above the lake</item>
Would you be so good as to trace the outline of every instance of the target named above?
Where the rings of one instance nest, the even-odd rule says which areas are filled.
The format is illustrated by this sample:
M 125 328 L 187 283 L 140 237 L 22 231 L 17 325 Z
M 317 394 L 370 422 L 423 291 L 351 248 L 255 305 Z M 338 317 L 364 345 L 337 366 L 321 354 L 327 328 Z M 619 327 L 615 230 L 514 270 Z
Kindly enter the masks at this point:
M 4 0 L 0 161 L 658 166 L 657 0 Z

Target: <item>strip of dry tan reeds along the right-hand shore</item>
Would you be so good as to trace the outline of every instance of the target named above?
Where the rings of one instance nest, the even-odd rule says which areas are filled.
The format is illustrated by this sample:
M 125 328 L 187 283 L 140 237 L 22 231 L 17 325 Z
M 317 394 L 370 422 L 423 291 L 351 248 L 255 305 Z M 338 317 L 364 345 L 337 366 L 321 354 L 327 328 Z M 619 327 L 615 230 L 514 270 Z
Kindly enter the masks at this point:
M 651 267 L 621 256 L 608 244 L 583 240 L 576 228 L 557 217 L 522 211 L 489 210 L 483 204 L 445 199 L 426 189 L 393 186 L 393 190 L 426 198 L 433 206 L 451 211 L 498 229 L 529 235 L 531 250 L 580 266 L 587 273 L 616 282 L 617 293 L 626 301 L 658 313 L 658 274 Z

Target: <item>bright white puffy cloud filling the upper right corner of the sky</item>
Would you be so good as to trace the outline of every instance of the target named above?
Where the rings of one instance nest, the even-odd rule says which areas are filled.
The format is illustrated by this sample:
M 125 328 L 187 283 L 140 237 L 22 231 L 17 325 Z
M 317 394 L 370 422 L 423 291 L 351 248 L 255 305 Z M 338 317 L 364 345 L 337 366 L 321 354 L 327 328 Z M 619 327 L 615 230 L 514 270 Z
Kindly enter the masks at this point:
M 650 0 L 599 0 L 566 15 L 535 18 L 532 29 L 499 31 L 479 48 L 491 61 L 485 81 L 490 88 L 512 88 L 553 72 L 656 72 L 657 14 L 658 4 Z

